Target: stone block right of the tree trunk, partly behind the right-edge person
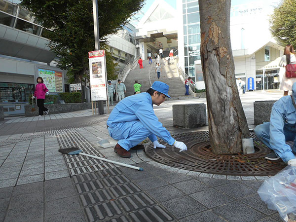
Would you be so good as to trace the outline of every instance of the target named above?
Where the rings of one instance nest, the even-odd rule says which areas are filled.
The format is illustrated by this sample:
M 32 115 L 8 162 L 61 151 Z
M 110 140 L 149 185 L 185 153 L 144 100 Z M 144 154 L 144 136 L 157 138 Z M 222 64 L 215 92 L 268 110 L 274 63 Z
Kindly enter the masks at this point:
M 270 113 L 273 104 L 277 100 L 255 101 L 254 102 L 254 124 L 259 125 L 263 122 L 269 122 Z

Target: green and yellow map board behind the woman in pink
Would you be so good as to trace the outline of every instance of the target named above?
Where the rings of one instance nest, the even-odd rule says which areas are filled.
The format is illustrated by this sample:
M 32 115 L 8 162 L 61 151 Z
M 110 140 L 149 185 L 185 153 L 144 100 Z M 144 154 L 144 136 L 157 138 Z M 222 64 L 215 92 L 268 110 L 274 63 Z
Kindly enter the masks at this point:
M 63 92 L 62 72 L 38 68 L 38 76 L 43 78 L 49 92 Z

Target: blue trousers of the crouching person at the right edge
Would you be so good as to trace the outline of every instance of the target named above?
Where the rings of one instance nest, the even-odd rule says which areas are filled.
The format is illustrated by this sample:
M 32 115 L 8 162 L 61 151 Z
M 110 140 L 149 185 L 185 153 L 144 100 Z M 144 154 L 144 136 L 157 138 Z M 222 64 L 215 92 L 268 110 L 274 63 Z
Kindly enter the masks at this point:
M 260 124 L 258 126 L 256 126 L 254 132 L 256 134 L 256 136 L 258 137 L 258 139 L 265 144 L 267 147 L 269 147 L 270 149 L 273 149 L 275 151 L 275 153 L 278 152 L 287 152 L 289 150 L 283 150 L 282 147 L 279 148 L 271 148 L 270 144 L 269 144 L 269 140 L 270 140 L 270 135 L 269 135 L 269 122 L 265 122 L 263 124 Z M 284 127 L 284 135 L 286 138 L 286 142 L 287 141 L 294 141 L 294 146 L 292 148 L 292 152 L 294 154 L 296 154 L 296 131 L 290 130 L 286 127 Z M 291 150 L 291 149 L 290 149 Z

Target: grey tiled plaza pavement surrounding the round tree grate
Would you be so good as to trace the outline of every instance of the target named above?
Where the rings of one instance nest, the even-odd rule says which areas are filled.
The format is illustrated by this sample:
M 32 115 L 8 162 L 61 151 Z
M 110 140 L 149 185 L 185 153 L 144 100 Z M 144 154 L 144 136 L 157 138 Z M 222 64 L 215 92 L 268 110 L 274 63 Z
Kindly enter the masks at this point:
M 253 102 L 281 96 L 279 91 L 242 95 L 249 128 L 254 127 Z M 196 102 L 205 103 L 205 99 L 167 101 L 155 107 L 155 113 L 171 133 L 189 131 L 172 127 L 172 105 Z M 143 150 L 133 151 L 130 159 L 119 158 L 113 148 L 101 148 L 97 144 L 99 138 L 110 139 L 107 118 L 108 115 L 92 116 L 90 111 L 77 111 L 0 122 L 0 221 L 281 220 L 257 194 L 268 177 L 191 172 L 151 161 Z M 116 165 L 106 169 L 103 163 L 97 168 L 99 171 L 81 171 L 70 178 L 67 159 L 57 152 L 61 144 L 56 133 L 67 135 L 70 132 L 65 128 L 75 129 L 73 132 L 84 138 L 89 143 L 87 146 L 96 148 L 107 158 L 145 170 Z M 80 156 L 74 164 L 79 165 L 83 158 Z

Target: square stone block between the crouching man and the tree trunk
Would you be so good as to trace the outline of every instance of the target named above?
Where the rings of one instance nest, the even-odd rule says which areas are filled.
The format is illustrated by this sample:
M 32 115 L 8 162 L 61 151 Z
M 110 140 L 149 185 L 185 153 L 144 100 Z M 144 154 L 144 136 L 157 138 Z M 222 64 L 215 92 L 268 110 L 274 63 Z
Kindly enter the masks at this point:
M 199 104 L 177 104 L 173 105 L 173 125 L 183 128 L 196 128 L 205 126 L 206 105 Z

